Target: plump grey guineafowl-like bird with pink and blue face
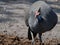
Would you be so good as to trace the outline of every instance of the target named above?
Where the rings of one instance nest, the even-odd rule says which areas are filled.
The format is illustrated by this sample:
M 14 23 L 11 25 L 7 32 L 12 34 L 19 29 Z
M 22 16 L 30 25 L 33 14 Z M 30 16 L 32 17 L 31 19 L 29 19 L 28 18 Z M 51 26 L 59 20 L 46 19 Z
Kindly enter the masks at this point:
M 44 1 L 34 2 L 25 18 L 25 24 L 28 27 L 28 39 L 34 44 L 37 34 L 42 42 L 42 33 L 50 31 L 57 24 L 58 17 L 52 7 Z

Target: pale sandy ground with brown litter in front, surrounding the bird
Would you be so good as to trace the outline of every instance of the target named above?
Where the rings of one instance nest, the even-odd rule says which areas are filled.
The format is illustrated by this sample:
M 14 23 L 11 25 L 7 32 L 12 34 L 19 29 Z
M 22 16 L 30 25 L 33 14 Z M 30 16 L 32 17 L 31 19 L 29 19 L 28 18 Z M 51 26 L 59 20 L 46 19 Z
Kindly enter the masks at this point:
M 15 2 L 0 2 L 0 45 L 31 45 L 27 38 L 25 15 L 31 4 Z M 60 43 L 60 5 L 51 4 L 58 15 L 58 24 L 48 32 L 42 34 L 45 45 L 57 45 Z M 56 9 L 58 8 L 58 9 Z M 39 38 L 36 38 L 36 45 L 39 45 Z

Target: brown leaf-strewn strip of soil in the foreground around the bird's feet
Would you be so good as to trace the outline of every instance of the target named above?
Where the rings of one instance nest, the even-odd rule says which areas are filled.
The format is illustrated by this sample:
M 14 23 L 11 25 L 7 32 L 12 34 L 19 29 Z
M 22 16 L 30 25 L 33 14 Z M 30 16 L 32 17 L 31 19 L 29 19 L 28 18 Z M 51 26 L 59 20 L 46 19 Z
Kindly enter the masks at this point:
M 59 45 L 57 42 L 56 39 L 52 39 L 47 43 L 44 43 L 44 45 Z M 31 45 L 31 40 L 24 37 L 0 34 L 0 45 Z M 38 38 L 35 39 L 35 45 L 40 45 Z

